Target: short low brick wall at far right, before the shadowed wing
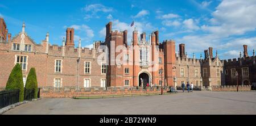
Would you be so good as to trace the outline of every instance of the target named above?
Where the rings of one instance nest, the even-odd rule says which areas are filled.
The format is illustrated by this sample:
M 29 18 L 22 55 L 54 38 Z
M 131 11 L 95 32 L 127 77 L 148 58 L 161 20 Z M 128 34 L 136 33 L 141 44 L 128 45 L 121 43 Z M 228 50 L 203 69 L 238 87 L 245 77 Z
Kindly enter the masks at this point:
M 238 85 L 238 91 L 250 91 L 251 85 Z M 236 85 L 231 86 L 212 86 L 212 91 L 237 91 Z

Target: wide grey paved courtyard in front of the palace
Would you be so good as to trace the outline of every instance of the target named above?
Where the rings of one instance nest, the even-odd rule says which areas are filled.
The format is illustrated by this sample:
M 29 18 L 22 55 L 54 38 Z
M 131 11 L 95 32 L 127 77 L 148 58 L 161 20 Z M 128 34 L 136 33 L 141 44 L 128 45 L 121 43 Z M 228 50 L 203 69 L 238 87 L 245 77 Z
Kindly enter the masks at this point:
M 256 92 L 194 91 L 125 98 L 43 98 L 5 114 L 256 114 Z

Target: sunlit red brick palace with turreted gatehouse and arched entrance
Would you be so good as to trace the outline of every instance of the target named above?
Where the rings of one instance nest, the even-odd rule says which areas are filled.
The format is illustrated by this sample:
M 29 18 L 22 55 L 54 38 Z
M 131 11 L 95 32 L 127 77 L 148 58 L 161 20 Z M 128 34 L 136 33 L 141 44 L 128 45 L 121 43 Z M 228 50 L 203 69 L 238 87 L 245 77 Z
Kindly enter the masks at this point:
M 195 86 L 225 85 L 225 62 L 218 58 L 217 51 L 213 56 L 210 47 L 204 58 L 188 58 L 184 44 L 175 53 L 174 40 L 159 43 L 158 31 L 150 33 L 147 40 L 146 33 L 138 35 L 135 29 L 129 45 L 127 30 L 112 31 L 110 22 L 105 41 L 96 41 L 89 49 L 82 48 L 81 41 L 75 47 L 73 28 L 67 28 L 59 46 L 50 44 L 49 33 L 42 43 L 36 43 L 25 27 L 23 23 L 22 31 L 12 37 L 5 20 L 0 19 L 1 88 L 17 63 L 22 66 L 24 82 L 30 68 L 36 69 L 40 87 L 180 86 L 187 81 Z

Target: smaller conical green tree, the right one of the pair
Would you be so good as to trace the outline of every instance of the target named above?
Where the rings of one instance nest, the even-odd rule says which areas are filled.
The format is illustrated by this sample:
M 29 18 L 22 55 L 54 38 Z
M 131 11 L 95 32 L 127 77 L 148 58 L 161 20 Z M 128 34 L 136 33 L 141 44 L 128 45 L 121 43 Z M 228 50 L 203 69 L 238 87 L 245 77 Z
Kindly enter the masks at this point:
M 38 98 L 38 80 L 36 79 L 35 68 L 30 69 L 30 73 L 27 75 L 27 81 L 25 85 L 26 89 L 34 89 L 34 98 Z

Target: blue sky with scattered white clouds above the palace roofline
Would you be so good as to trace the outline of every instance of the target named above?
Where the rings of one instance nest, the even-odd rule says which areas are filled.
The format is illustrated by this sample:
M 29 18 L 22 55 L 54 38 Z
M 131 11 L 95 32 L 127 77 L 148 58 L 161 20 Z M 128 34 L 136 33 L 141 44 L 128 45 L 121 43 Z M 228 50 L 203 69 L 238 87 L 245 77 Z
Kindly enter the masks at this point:
M 131 39 L 135 20 L 139 32 L 147 36 L 159 30 L 160 41 L 173 39 L 185 43 L 189 57 L 200 58 L 204 49 L 213 47 L 221 59 L 239 57 L 243 44 L 251 56 L 256 47 L 256 1 L 39 1 L 13 0 L 0 2 L 0 16 L 12 35 L 26 23 L 29 36 L 41 43 L 50 33 L 50 43 L 61 45 L 67 27 L 75 28 L 75 43 L 83 47 L 93 41 L 104 41 L 105 24 L 112 21 L 114 30 L 128 30 Z M 147 38 L 148 39 L 148 38 Z M 204 56 L 204 54 L 203 54 Z

